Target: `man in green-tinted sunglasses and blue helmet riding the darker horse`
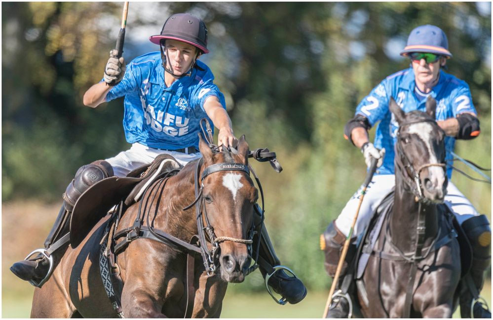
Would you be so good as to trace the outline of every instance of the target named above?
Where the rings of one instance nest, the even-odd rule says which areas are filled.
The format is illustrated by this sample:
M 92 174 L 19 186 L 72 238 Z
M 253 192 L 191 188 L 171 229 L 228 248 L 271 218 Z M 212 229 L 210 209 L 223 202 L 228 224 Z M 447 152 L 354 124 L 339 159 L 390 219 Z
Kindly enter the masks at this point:
M 381 200 L 395 185 L 394 145 L 398 124 L 389 111 L 389 101 L 393 98 L 405 112 L 413 110 L 425 111 L 426 98 L 432 96 L 437 101 L 436 121 L 445 133 L 446 161 L 453 160 L 455 140 L 470 140 L 480 134 L 477 112 L 472 103 L 469 86 L 462 80 L 444 71 L 447 60 L 452 58 L 448 48 L 445 32 L 432 25 L 415 28 L 408 37 L 406 47 L 401 56 L 410 59 L 408 69 L 396 72 L 375 87 L 368 96 L 363 98 L 356 108 L 354 118 L 344 127 L 344 136 L 354 146 L 361 149 L 365 163 L 370 166 L 372 158 L 378 160 L 378 169 L 366 190 L 365 198 L 359 210 L 354 226 L 352 246 L 355 239 L 368 226 L 372 213 Z M 374 143 L 370 142 L 368 130 L 377 129 Z M 385 156 L 386 154 L 386 156 Z M 385 156 L 385 157 L 384 157 Z M 478 292 L 483 288 L 485 270 L 491 262 L 491 229 L 485 215 L 479 214 L 471 202 L 450 181 L 452 168 L 447 169 L 449 179 L 445 204 L 455 214 L 458 223 L 464 229 L 472 246 L 473 261 L 471 275 Z M 358 206 L 356 192 L 342 209 L 339 217 L 325 230 L 325 268 L 334 277 L 341 247 L 349 234 L 353 216 Z M 349 250 L 348 252 L 354 252 Z M 341 278 L 347 269 L 346 256 Z M 471 305 L 477 298 L 472 292 L 461 295 L 460 311 L 464 318 L 470 317 Z M 481 303 L 473 307 L 475 318 L 491 318 L 491 313 Z M 347 318 L 348 301 L 340 297 L 329 310 L 329 318 Z

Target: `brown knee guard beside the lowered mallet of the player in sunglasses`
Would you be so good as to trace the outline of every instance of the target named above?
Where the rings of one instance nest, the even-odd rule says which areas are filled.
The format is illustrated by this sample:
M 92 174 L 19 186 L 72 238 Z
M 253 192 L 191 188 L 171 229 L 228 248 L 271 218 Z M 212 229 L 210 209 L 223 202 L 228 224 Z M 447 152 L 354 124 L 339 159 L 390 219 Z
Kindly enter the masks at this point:
M 339 230 L 333 221 L 327 229 L 320 235 L 320 249 L 325 253 L 325 271 L 331 277 L 336 274 L 337 265 L 341 257 L 342 246 L 346 240 L 346 236 Z M 352 260 L 355 253 L 355 246 L 350 245 L 344 263 L 342 264 L 341 275 L 344 275 L 347 266 Z

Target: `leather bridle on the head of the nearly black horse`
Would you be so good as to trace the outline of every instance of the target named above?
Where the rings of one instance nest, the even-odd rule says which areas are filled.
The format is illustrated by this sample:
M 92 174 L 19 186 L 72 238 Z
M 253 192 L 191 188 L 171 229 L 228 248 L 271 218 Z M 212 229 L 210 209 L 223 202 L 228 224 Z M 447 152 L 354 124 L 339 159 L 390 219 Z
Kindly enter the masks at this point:
M 397 130 L 397 151 L 399 152 L 401 157 L 397 157 L 398 159 L 398 165 L 401 167 L 401 171 L 403 172 L 404 179 L 406 181 L 406 184 L 411 188 L 413 193 L 416 195 L 418 201 L 424 201 L 425 197 L 423 196 L 422 192 L 422 186 L 421 182 L 419 181 L 419 174 L 424 168 L 432 167 L 432 166 L 438 166 L 438 167 L 443 167 L 445 168 L 445 160 L 442 163 L 426 163 L 421 165 L 417 170 L 413 167 L 411 161 L 409 161 L 409 158 L 407 157 L 406 153 L 404 152 L 404 149 L 402 148 L 402 145 L 399 143 L 400 140 L 402 140 L 402 137 L 400 136 L 400 131 L 401 128 L 417 123 L 423 123 L 423 122 L 432 122 L 436 123 L 432 119 L 425 119 L 425 120 L 418 120 L 418 121 L 410 121 L 410 122 L 405 122 L 403 124 L 399 124 L 399 129 Z M 409 171 L 408 171 L 409 169 Z M 409 173 L 411 172 L 411 174 Z

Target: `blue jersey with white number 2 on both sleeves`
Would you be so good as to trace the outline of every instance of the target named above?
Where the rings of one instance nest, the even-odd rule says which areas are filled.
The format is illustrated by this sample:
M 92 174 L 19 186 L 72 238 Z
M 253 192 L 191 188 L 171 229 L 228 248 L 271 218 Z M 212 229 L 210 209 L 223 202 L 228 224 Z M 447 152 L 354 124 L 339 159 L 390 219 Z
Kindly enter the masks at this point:
M 396 72 L 385 78 L 357 106 L 356 113 L 368 119 L 372 127 L 377 124 L 375 147 L 385 148 L 385 158 L 376 174 L 394 174 L 394 145 L 397 141 L 399 125 L 388 109 L 390 97 L 393 97 L 404 112 L 419 110 L 426 112 L 426 99 L 417 97 L 413 68 Z M 461 113 L 477 115 L 472 103 L 469 86 L 455 76 L 440 70 L 438 83 L 429 93 L 437 102 L 436 120 L 442 121 L 455 118 Z M 455 138 L 445 137 L 446 157 L 452 160 L 450 151 L 454 151 Z M 452 177 L 452 168 L 447 169 L 447 176 Z

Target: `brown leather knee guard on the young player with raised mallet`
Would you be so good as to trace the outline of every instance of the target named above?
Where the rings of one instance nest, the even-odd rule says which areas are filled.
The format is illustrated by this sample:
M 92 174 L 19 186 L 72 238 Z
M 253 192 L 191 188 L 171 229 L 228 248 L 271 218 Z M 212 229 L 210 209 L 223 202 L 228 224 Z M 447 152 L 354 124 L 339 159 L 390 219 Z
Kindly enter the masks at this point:
M 108 161 L 98 160 L 81 166 L 63 194 L 63 205 L 65 209 L 72 211 L 77 199 L 82 193 L 98 181 L 111 176 L 113 176 L 113 167 Z

